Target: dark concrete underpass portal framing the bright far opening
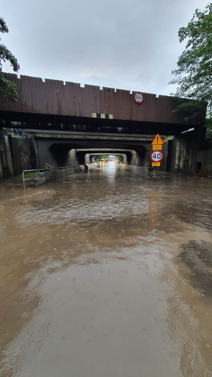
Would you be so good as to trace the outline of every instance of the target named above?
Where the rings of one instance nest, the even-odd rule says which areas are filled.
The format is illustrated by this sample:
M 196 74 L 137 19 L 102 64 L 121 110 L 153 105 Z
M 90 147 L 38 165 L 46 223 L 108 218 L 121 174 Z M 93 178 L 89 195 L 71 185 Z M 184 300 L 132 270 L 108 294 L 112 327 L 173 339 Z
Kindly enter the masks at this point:
M 152 135 L 83 132 L 48 132 L 26 130 L 36 155 L 36 164 L 44 168 L 80 165 L 90 162 L 90 154 L 124 155 L 124 163 L 147 166 Z

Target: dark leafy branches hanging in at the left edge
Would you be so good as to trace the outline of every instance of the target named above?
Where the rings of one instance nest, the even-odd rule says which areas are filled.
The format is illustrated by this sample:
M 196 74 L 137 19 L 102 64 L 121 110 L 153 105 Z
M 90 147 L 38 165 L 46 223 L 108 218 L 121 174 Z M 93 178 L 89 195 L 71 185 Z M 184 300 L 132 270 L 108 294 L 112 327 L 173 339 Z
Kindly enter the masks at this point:
M 0 32 L 1 33 L 8 33 L 8 27 L 3 18 L 0 17 Z M 1 41 L 1 38 L 0 38 Z M 0 93 L 3 94 L 4 97 L 9 98 L 11 101 L 17 101 L 18 99 L 18 92 L 15 83 L 12 81 L 6 80 L 4 74 L 2 72 L 2 63 L 8 60 L 11 64 L 12 69 L 14 72 L 18 72 L 20 69 L 17 59 L 12 55 L 12 53 L 4 46 L 3 43 L 0 43 Z

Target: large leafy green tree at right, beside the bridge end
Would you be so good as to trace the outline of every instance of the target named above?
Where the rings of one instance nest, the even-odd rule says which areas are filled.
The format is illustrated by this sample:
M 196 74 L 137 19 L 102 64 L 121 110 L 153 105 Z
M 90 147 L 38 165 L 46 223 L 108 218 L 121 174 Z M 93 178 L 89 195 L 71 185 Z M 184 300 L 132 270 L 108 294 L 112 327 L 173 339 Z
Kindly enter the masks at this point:
M 212 132 L 212 3 L 203 11 L 196 9 L 187 27 L 180 28 L 178 37 L 180 43 L 187 41 L 186 49 L 169 84 L 178 85 L 175 97 L 189 101 L 180 103 L 175 111 L 188 110 L 192 118 L 202 114 L 207 106 L 206 126 Z

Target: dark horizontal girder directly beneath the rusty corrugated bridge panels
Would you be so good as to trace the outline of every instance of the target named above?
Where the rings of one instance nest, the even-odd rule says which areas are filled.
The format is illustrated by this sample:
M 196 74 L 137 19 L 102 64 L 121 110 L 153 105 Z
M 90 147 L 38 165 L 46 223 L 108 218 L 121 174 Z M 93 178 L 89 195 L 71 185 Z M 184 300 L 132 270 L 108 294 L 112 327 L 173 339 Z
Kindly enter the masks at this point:
M 75 116 L 29 114 L 0 111 L 0 125 L 6 128 L 22 128 L 48 131 L 84 131 L 155 135 L 180 135 L 193 125 L 146 122 L 132 120 L 96 119 Z M 200 127 L 194 125 L 194 127 Z

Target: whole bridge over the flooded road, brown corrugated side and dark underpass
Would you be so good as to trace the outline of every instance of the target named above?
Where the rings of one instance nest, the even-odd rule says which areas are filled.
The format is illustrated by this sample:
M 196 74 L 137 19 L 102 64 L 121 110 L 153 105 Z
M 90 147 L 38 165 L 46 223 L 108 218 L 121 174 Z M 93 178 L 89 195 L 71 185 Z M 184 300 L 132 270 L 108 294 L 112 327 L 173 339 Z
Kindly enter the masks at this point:
M 132 150 L 132 158 L 129 152 L 126 161 L 146 166 L 151 141 L 159 133 L 174 136 L 173 143 L 169 143 L 169 170 L 195 171 L 197 150 L 204 142 L 205 112 L 186 120 L 190 114 L 174 112 L 183 99 L 143 93 L 143 103 L 137 104 L 135 92 L 128 90 L 101 90 L 25 76 L 18 79 L 12 74 L 5 77 L 17 84 L 19 97 L 11 103 L 0 96 L 0 126 L 15 133 L 17 129 L 25 130 L 31 167 L 83 163 L 86 154 L 76 152 L 80 149 Z M 182 134 L 191 128 L 194 130 L 189 136 Z

